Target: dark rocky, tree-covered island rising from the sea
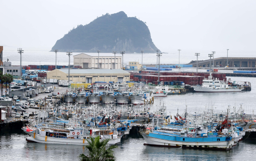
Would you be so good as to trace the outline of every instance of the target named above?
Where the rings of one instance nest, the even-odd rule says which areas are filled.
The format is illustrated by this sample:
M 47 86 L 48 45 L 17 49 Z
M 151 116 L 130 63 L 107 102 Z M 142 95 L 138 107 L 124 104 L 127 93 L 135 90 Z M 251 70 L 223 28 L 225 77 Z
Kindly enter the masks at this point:
M 112 53 L 155 53 L 157 47 L 152 42 L 148 27 L 135 17 L 127 17 L 125 12 L 106 14 L 91 23 L 76 29 L 59 39 L 52 47 L 66 52 Z

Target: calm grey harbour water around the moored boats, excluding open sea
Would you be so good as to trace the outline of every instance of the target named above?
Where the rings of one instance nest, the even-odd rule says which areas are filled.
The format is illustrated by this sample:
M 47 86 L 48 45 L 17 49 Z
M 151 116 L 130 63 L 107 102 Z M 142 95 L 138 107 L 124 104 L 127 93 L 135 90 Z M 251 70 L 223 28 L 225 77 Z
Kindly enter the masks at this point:
M 227 105 L 243 104 L 245 113 L 252 113 L 255 106 L 256 78 L 231 77 L 232 80 L 250 81 L 252 91 L 240 93 L 187 93 L 182 95 L 168 95 L 162 98 L 172 115 L 184 113 L 186 104 L 188 112 L 200 112 L 214 104 L 216 111 L 224 111 Z M 160 98 L 155 98 L 152 107 L 160 104 Z M 84 153 L 82 146 L 27 143 L 26 137 L 20 129 L 0 134 L 0 160 L 48 160 L 69 161 L 78 160 L 78 155 Z M 135 133 L 122 140 L 115 149 L 118 161 L 130 160 L 255 160 L 256 140 L 239 142 L 230 151 L 197 150 L 166 147 L 144 146 L 144 139 Z

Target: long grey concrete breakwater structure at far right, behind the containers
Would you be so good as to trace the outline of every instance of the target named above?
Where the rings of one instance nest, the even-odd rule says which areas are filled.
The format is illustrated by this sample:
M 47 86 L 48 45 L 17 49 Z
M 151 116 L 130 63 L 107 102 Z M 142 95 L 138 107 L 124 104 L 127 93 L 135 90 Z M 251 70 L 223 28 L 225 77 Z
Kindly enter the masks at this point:
M 230 67 L 255 67 L 256 57 L 229 57 L 228 65 Z M 193 65 L 197 67 L 197 61 L 188 63 L 187 65 Z M 213 59 L 211 59 L 211 65 L 213 65 Z M 214 59 L 214 66 L 226 66 L 227 57 L 219 57 Z M 210 59 L 198 61 L 198 67 L 210 67 Z

